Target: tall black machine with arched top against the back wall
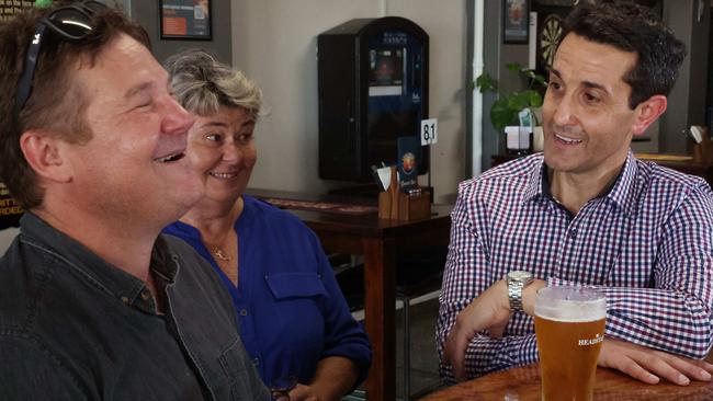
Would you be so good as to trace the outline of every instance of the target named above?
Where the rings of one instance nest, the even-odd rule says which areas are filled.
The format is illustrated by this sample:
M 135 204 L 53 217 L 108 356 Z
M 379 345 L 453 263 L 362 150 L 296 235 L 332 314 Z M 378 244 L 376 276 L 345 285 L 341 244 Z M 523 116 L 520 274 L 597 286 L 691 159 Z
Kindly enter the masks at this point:
M 317 37 L 319 176 L 372 181 L 428 118 L 428 34 L 399 16 L 348 21 Z M 429 169 L 428 148 L 419 174 Z

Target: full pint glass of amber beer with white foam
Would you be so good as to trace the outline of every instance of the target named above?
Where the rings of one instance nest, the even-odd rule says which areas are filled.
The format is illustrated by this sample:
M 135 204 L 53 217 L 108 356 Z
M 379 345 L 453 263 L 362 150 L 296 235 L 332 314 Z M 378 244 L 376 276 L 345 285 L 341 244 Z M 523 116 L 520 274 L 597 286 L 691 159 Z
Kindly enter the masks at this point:
M 591 400 L 604 340 L 604 295 L 588 288 L 544 287 L 537 291 L 534 312 L 542 400 Z

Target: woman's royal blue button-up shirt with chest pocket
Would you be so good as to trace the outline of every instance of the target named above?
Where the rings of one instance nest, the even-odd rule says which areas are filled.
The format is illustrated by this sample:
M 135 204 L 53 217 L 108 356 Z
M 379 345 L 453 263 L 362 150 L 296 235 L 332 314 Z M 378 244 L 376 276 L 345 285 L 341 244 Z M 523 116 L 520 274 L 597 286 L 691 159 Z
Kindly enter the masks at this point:
M 233 296 L 240 336 L 265 383 L 285 375 L 308 383 L 327 356 L 354 362 L 361 381 L 371 364 L 371 347 L 349 312 L 319 240 L 294 215 L 250 196 L 242 199 L 235 222 L 237 287 L 197 229 L 177 221 L 165 232 L 188 241 L 220 275 Z

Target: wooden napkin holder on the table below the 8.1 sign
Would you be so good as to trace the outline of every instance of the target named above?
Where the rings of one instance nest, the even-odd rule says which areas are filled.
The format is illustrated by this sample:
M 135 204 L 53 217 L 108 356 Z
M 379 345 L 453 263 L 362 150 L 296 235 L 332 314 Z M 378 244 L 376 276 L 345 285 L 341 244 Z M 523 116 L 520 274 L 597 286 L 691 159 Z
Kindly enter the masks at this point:
M 417 194 L 407 194 L 400 191 L 395 167 L 392 167 L 391 174 L 388 190 L 378 194 L 378 218 L 410 221 L 430 217 L 430 191 L 420 188 Z

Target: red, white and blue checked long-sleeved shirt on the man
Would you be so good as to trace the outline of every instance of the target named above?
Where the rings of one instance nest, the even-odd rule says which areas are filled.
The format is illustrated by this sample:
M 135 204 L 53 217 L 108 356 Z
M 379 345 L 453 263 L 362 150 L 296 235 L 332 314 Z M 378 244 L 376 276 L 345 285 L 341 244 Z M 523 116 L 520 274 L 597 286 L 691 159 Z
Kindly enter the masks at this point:
M 713 337 L 711 187 L 630 152 L 611 190 L 575 216 L 550 195 L 544 169 L 537 153 L 461 183 L 440 296 L 441 360 L 456 314 L 513 270 L 550 286 L 599 288 L 608 336 L 703 358 Z M 465 360 L 468 377 L 537 360 L 532 318 L 516 312 L 499 340 L 479 333 Z

